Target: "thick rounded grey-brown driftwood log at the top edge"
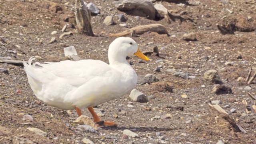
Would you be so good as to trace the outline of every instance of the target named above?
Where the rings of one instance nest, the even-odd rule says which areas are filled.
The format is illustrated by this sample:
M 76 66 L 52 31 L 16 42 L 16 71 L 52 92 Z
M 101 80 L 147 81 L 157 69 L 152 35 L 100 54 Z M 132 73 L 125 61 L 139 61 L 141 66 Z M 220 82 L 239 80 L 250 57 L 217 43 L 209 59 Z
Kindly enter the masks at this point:
M 155 20 L 156 9 L 150 0 L 124 0 L 117 6 L 117 9 L 127 14 L 143 16 L 150 20 Z

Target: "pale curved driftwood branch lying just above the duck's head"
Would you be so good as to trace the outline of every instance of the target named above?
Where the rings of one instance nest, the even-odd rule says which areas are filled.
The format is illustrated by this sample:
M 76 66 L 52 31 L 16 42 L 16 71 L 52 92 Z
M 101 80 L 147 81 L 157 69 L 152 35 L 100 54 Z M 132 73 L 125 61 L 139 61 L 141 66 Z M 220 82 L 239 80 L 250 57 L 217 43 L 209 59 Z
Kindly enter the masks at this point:
M 109 36 L 126 36 L 131 34 L 132 31 L 135 30 L 136 34 L 143 34 L 144 32 L 157 32 L 158 34 L 168 34 L 166 28 L 162 24 L 149 24 L 144 26 L 136 26 L 134 28 L 130 28 L 129 30 L 125 30 L 123 32 L 119 32 L 117 34 L 110 34 Z

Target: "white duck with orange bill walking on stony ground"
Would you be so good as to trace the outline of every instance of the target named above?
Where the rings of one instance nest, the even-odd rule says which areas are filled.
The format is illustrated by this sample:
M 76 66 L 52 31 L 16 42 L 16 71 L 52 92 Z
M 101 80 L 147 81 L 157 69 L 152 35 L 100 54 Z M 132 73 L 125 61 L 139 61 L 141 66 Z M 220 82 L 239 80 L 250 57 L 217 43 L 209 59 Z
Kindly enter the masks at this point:
M 136 86 L 136 72 L 126 61 L 126 56 L 133 54 L 149 60 L 132 38 L 120 37 L 109 46 L 109 65 L 100 60 L 35 62 L 31 65 L 35 59 L 32 57 L 28 64 L 24 61 L 23 64 L 38 99 L 64 110 L 76 109 L 78 116 L 82 114 L 81 109 L 88 108 L 94 122 L 100 122 L 92 107 L 120 98 Z M 104 125 L 116 123 L 104 122 Z

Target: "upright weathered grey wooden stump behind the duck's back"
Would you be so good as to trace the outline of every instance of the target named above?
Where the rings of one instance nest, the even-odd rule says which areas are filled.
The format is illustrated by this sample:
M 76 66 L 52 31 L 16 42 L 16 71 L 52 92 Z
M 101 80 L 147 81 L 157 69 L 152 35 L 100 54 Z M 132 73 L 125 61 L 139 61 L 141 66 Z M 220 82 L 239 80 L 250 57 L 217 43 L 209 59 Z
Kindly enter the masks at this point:
M 75 16 L 78 32 L 88 36 L 94 36 L 90 22 L 90 11 L 84 4 L 83 0 L 76 0 Z

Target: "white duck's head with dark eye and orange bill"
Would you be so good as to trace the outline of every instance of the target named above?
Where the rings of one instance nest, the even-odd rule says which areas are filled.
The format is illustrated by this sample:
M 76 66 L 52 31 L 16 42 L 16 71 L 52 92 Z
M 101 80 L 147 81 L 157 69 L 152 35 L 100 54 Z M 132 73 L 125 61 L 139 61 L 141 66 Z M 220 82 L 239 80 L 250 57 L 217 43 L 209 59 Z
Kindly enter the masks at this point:
M 126 56 L 138 56 L 143 60 L 149 60 L 140 50 L 138 49 L 137 43 L 128 37 L 116 38 L 108 48 L 108 59 L 109 61 L 120 60 L 126 58 Z

